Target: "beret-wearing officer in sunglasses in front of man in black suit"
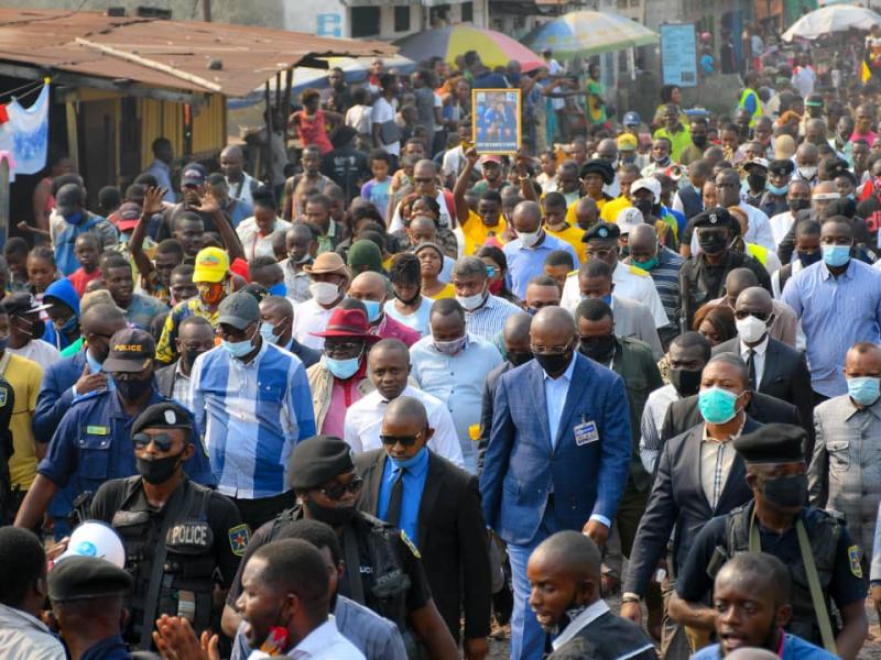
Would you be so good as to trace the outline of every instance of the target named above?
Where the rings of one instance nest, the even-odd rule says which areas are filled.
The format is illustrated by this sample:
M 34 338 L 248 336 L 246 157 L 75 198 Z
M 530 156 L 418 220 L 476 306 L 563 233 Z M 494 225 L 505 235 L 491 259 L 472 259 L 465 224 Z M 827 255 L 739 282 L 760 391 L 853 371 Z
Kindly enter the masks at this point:
M 362 481 L 355 471 L 351 448 L 331 436 L 304 440 L 291 452 L 287 479 L 297 496 L 296 506 L 254 532 L 241 565 L 293 520 L 326 522 L 340 539 L 347 565 L 339 593 L 398 624 L 409 657 L 418 657 L 421 642 L 432 658 L 458 658 L 456 644 L 432 600 L 416 547 L 399 529 L 356 509 Z M 241 622 L 236 612 L 241 588 L 239 569 L 224 609 L 222 629 L 230 637 Z

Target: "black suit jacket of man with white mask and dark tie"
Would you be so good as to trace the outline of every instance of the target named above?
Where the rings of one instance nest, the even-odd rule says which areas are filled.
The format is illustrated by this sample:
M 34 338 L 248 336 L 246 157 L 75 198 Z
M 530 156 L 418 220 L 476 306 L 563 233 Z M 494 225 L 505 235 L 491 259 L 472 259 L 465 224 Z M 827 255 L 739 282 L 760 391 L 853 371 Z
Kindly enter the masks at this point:
M 740 339 L 733 338 L 713 349 L 713 354 L 735 353 L 740 355 Z M 814 431 L 814 394 L 811 389 L 811 372 L 804 353 L 776 339 L 769 339 L 764 355 L 764 371 L 759 392 L 792 404 L 798 409 L 802 425 L 809 436 Z M 770 420 L 760 419 L 768 424 Z M 811 455 L 811 454 L 806 454 Z

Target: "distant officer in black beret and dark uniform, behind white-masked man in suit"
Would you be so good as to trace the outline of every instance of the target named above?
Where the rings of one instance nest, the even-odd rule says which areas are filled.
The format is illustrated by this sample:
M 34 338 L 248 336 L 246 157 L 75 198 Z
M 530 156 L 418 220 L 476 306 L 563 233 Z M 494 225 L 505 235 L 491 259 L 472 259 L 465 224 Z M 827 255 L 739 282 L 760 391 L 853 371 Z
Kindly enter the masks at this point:
M 735 268 L 749 268 L 755 273 L 759 284 L 771 293 L 771 277 L 764 266 L 751 256 L 731 250 L 735 238 L 740 235 L 740 223 L 722 207 L 707 209 L 690 222 L 697 232 L 700 252 L 689 256 L 679 268 L 679 295 L 682 296 L 685 332 L 692 329 L 692 319 L 698 307 L 722 295 L 725 277 Z

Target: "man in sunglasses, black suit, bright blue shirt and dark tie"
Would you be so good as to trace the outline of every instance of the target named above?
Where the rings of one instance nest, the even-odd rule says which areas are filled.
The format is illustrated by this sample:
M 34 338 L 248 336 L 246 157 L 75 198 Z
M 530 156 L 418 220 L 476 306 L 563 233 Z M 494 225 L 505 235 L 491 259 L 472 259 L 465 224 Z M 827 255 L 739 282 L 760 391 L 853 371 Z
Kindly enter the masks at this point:
M 464 614 L 465 657 L 482 659 L 489 652 L 492 587 L 480 490 L 476 476 L 428 451 L 433 435 L 422 402 L 392 400 L 382 416 L 382 449 L 355 457 L 365 481 L 358 508 L 400 527 L 418 548 L 453 638 L 459 639 Z

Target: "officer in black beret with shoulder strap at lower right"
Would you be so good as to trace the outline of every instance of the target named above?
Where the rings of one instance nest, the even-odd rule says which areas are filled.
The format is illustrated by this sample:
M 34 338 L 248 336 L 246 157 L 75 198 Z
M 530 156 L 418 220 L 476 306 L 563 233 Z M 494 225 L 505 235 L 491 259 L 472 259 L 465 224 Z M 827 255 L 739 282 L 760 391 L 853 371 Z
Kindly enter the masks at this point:
M 770 424 L 735 440 L 753 501 L 711 519 L 697 535 L 676 581 L 670 616 L 714 630 L 716 610 L 704 602 L 716 573 L 738 552 L 768 552 L 792 574 L 787 630 L 852 660 L 869 628 L 861 551 L 840 516 L 804 506 L 806 442 L 804 429 L 784 424 Z M 831 603 L 840 613 L 840 627 L 830 616 Z

